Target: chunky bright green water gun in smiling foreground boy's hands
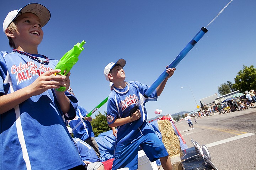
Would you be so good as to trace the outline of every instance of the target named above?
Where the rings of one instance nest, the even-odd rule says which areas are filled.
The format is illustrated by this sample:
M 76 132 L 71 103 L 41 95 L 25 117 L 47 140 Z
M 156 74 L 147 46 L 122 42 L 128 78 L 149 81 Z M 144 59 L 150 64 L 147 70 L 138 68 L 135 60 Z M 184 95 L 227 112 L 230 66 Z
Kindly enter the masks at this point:
M 82 47 L 85 44 L 85 41 L 83 40 L 81 43 L 77 43 L 74 45 L 74 47 L 65 53 L 65 55 L 60 59 L 55 69 L 61 69 L 61 72 L 58 73 L 60 75 L 66 75 L 71 70 L 71 68 L 75 65 L 75 63 L 78 61 L 78 56 L 84 50 L 84 47 Z M 66 71 L 64 73 L 64 71 Z M 56 75 L 56 74 L 55 74 Z M 60 87 L 59 89 L 56 89 L 57 91 L 65 91 L 66 87 Z

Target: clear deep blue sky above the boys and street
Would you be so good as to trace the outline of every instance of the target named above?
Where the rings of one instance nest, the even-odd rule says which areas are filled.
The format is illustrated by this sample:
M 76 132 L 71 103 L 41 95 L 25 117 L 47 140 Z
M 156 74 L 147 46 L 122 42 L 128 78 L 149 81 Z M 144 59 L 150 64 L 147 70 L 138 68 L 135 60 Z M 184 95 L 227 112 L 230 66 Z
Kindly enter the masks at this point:
M 110 93 L 103 75 L 108 63 L 124 58 L 126 81 L 153 84 L 229 1 L 13 0 L 11 5 L 1 1 L 0 21 L 8 12 L 37 2 L 52 15 L 43 27 L 40 54 L 59 60 L 77 42 L 86 41 L 70 79 L 79 104 L 90 112 Z M 255 9 L 255 0 L 231 2 L 178 64 L 158 101 L 146 104 L 149 118 L 156 116 L 156 109 L 162 109 L 162 114 L 193 111 L 196 102 L 191 90 L 199 104 L 200 99 L 218 94 L 220 84 L 234 83 L 243 65 L 255 66 Z M 0 50 L 11 52 L 5 34 L 0 38 Z M 106 111 L 106 104 L 98 111 Z

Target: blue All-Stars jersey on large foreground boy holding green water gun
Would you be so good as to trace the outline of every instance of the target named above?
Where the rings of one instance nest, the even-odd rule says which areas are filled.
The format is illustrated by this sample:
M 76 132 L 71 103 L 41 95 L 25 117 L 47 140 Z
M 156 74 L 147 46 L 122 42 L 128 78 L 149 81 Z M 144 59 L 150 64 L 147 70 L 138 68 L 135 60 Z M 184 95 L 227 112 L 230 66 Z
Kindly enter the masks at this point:
M 44 65 L 17 52 L 1 52 L 0 96 L 32 84 L 57 63 L 50 60 Z M 71 88 L 65 95 L 70 100 L 70 111 L 65 114 L 54 89 L 49 89 L 0 115 L 0 169 L 64 170 L 84 165 L 63 121 L 75 117 L 78 100 Z

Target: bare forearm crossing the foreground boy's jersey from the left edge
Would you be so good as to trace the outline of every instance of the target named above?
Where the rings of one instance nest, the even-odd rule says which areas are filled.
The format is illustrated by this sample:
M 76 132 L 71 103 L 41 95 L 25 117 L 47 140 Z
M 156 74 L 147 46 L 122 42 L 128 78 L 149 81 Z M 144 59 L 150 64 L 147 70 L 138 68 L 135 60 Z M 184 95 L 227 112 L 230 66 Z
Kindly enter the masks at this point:
M 0 114 L 10 111 L 32 96 L 31 90 L 28 87 L 0 96 Z

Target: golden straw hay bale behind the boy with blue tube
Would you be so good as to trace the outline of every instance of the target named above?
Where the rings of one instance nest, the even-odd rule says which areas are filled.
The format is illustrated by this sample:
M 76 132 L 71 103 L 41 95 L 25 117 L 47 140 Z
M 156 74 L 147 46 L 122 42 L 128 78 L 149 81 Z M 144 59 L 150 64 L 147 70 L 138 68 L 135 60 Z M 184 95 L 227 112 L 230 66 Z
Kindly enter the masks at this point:
M 180 154 L 180 140 L 172 128 L 172 123 L 169 120 L 158 120 L 158 127 L 169 156 Z

